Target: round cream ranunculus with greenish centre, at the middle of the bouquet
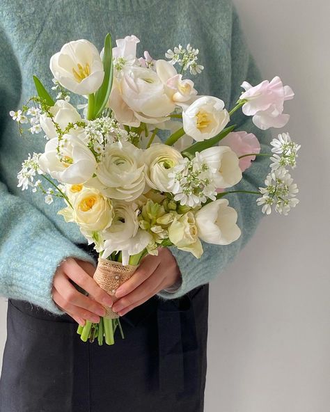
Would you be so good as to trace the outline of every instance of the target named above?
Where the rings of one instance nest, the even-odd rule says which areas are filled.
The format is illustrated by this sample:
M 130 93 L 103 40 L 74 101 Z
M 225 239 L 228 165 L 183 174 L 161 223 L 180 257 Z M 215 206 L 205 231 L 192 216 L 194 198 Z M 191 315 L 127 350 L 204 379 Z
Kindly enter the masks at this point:
M 156 143 L 144 152 L 146 164 L 146 180 L 152 189 L 168 191 L 168 169 L 182 160 L 182 154 L 171 146 Z

